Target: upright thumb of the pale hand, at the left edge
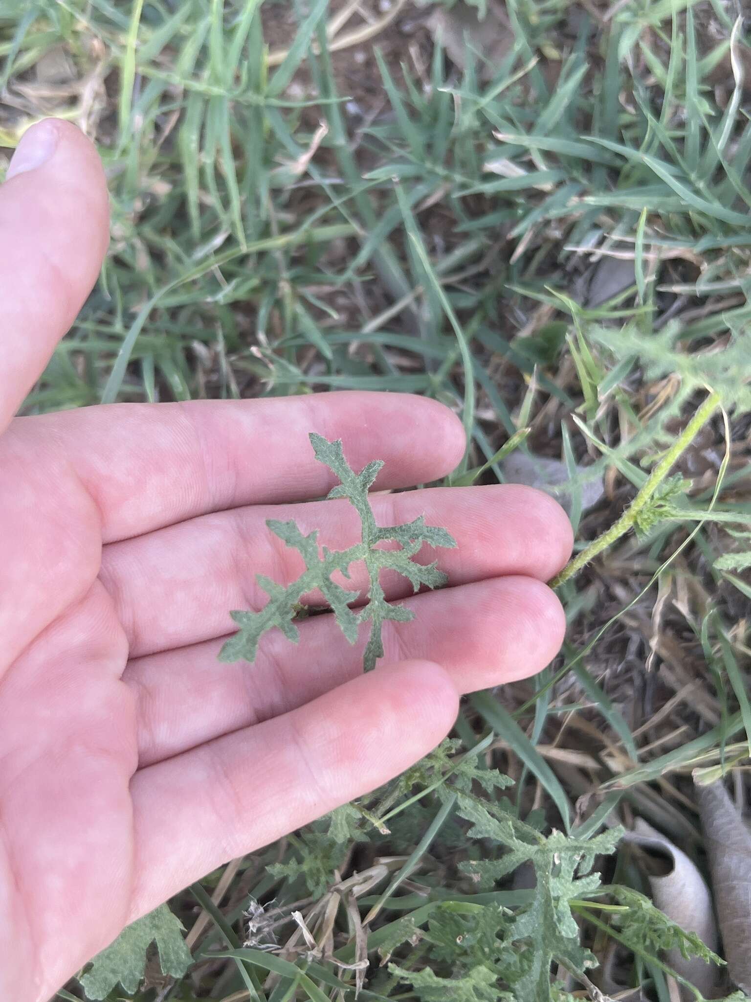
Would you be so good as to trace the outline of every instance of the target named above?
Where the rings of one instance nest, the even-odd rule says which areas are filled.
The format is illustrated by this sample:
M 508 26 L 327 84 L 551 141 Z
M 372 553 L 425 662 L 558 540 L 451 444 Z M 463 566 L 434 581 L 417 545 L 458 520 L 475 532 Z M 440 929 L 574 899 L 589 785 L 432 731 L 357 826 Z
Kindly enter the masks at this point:
M 0 431 L 91 292 L 108 231 L 93 145 L 69 122 L 33 125 L 0 187 Z

